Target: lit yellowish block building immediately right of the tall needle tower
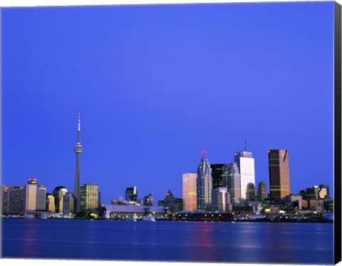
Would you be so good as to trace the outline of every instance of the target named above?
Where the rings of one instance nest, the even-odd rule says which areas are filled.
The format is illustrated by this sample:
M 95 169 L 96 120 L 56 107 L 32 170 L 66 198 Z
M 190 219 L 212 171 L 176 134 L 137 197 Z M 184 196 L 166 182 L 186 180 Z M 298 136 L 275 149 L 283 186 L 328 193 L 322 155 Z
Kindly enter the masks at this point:
M 81 185 L 81 212 L 98 208 L 98 184 L 86 183 Z

